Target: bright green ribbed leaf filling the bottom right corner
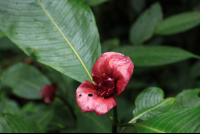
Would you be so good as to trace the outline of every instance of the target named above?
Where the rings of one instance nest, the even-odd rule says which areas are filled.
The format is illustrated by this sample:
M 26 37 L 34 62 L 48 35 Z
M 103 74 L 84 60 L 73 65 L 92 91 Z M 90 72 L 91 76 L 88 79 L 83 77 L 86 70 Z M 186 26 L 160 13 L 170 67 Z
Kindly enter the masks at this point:
M 200 107 L 168 112 L 135 124 L 138 133 L 200 133 Z

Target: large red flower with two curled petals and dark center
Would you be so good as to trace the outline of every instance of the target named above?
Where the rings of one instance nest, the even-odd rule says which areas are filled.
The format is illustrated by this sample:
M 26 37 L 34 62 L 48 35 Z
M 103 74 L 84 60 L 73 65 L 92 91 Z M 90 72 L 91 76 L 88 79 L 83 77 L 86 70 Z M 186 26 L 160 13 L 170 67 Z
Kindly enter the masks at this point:
M 84 81 L 76 90 L 76 101 L 82 112 L 103 115 L 117 105 L 119 96 L 129 83 L 133 62 L 121 53 L 103 53 L 95 62 L 92 78 L 95 84 Z

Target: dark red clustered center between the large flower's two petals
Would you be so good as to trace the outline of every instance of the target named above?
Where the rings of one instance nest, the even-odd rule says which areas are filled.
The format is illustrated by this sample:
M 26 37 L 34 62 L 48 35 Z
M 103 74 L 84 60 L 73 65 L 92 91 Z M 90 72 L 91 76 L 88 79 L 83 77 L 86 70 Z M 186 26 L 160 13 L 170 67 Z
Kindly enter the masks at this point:
M 96 83 L 96 89 L 98 96 L 108 98 L 116 93 L 115 80 L 104 73 Z

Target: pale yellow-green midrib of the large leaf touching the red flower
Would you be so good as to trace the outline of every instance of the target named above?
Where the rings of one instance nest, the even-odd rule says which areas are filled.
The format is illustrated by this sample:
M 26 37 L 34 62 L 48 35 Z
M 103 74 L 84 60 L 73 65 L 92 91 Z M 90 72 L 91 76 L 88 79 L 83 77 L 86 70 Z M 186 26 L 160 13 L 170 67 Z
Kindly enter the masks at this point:
M 72 49 L 72 51 L 74 52 L 74 54 L 77 56 L 78 60 L 80 61 L 81 65 L 83 66 L 85 72 L 87 73 L 87 75 L 89 76 L 91 82 L 92 81 L 92 76 L 88 70 L 88 68 L 86 67 L 85 63 L 83 62 L 83 60 L 81 59 L 81 57 L 79 56 L 79 54 L 76 52 L 76 50 L 74 49 L 74 47 L 72 46 L 72 44 L 69 42 L 69 40 L 67 39 L 67 37 L 64 35 L 64 33 L 62 32 L 62 30 L 59 28 L 59 26 L 56 24 L 56 22 L 53 20 L 53 18 L 50 16 L 50 14 L 47 12 L 47 10 L 44 8 L 44 6 L 42 5 L 40 0 L 37 0 L 37 2 L 39 3 L 39 5 L 41 6 L 41 8 L 43 9 L 43 11 L 45 12 L 45 14 L 49 17 L 49 19 L 51 20 L 51 22 L 54 24 L 54 26 L 57 28 L 57 30 L 60 32 L 60 34 L 63 36 L 63 38 L 65 39 L 65 41 L 68 43 L 68 45 L 70 46 L 70 48 Z M 94 82 L 93 82 L 94 83 Z

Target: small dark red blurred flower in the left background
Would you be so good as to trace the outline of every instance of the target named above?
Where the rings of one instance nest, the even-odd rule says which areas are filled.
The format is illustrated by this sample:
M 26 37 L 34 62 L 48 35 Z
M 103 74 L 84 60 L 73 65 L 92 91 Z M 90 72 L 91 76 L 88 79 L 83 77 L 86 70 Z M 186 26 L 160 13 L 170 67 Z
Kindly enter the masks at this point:
M 56 95 L 56 84 L 44 85 L 40 90 L 40 96 L 45 103 L 51 103 Z

